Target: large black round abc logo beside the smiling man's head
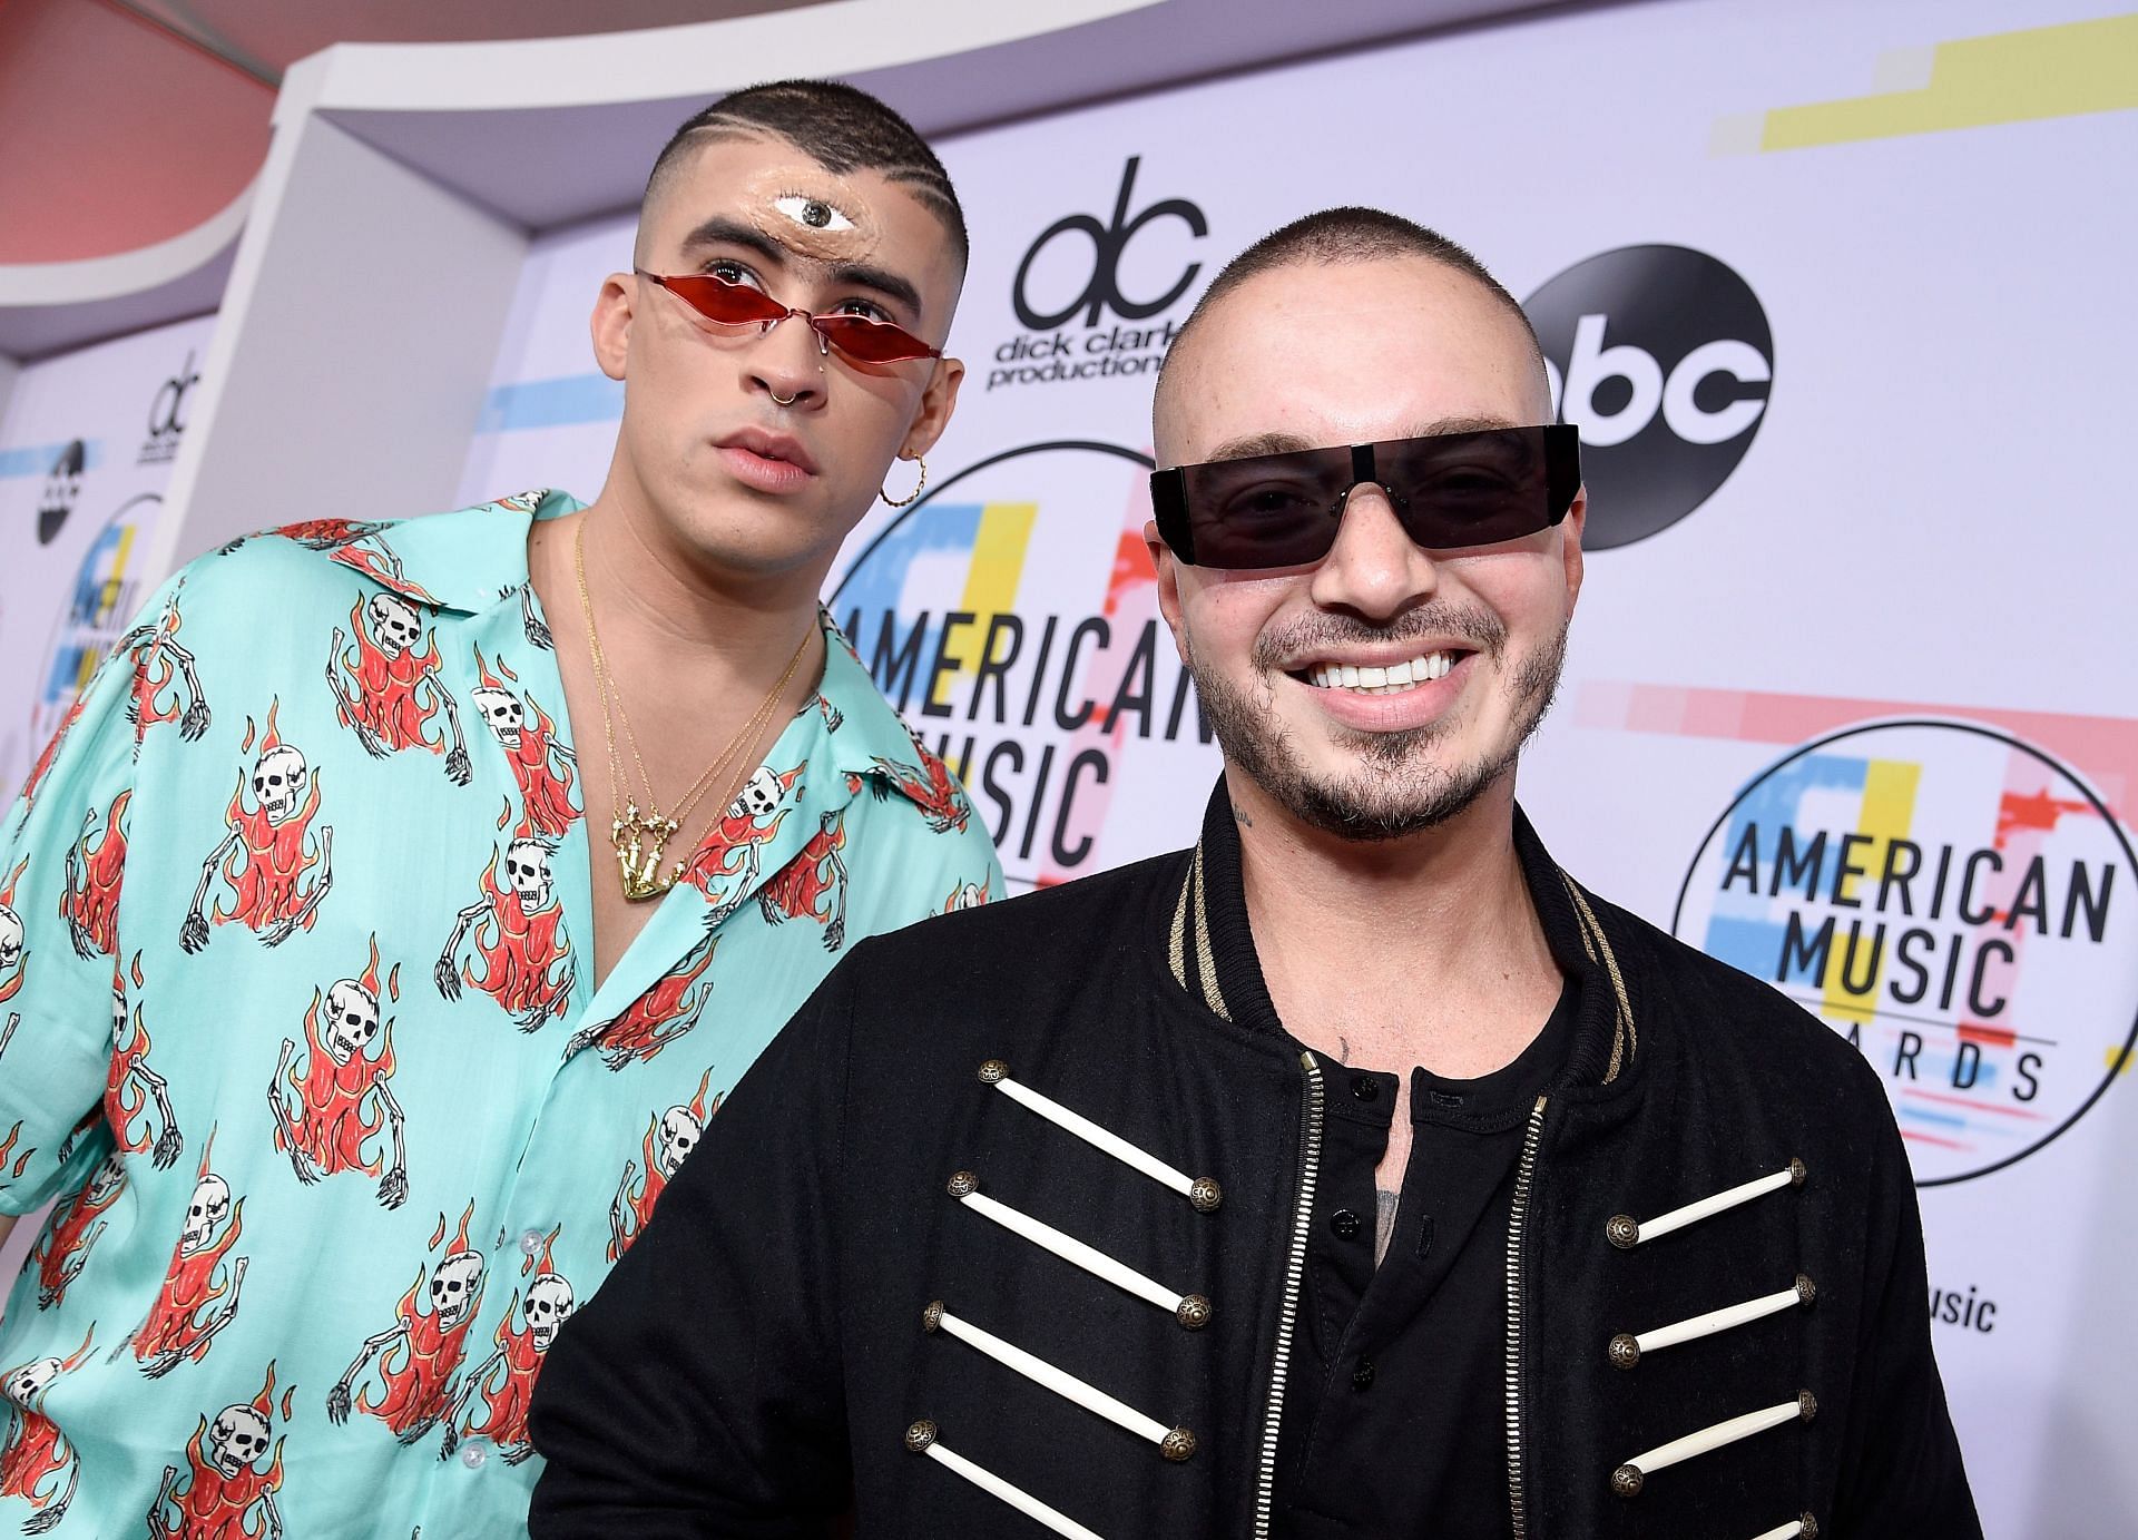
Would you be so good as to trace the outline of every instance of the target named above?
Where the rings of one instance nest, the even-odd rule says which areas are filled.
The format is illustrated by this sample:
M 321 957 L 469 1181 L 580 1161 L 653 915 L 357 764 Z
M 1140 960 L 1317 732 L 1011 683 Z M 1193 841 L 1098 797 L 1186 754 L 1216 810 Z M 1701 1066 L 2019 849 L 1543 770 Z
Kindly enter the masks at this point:
M 1561 421 L 1582 430 L 1589 528 L 1608 550 L 1666 530 L 1760 432 L 1775 338 L 1751 284 L 1685 246 L 1623 246 L 1524 304 Z

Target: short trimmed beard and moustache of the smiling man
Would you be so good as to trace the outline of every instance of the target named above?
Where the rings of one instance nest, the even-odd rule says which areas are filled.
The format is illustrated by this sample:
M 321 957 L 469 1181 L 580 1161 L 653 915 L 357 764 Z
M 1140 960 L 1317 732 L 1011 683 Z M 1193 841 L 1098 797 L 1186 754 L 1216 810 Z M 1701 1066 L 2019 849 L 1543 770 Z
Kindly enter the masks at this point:
M 1400 642 L 1426 633 L 1469 637 L 1477 644 L 1479 663 L 1497 665 L 1507 648 L 1507 631 L 1488 610 L 1428 605 L 1388 629 L 1321 616 L 1311 635 L 1300 635 L 1296 629 L 1259 637 L 1251 661 L 1266 676 L 1274 672 L 1274 659 L 1298 657 L 1313 642 Z M 1202 667 L 1193 635 L 1187 654 L 1189 674 L 1195 678 L 1204 714 L 1225 759 L 1302 823 L 1347 841 L 1394 841 L 1447 823 L 1514 772 L 1522 746 L 1559 693 L 1567 659 L 1567 625 L 1561 622 L 1550 646 L 1516 667 L 1509 682 L 1514 732 L 1503 746 L 1465 766 L 1443 766 L 1430 759 L 1430 749 L 1445 736 L 1441 723 L 1385 734 L 1334 727 L 1336 742 L 1355 751 L 1362 761 L 1349 776 L 1308 774 L 1287 746 L 1268 687 L 1242 691 L 1214 669 Z

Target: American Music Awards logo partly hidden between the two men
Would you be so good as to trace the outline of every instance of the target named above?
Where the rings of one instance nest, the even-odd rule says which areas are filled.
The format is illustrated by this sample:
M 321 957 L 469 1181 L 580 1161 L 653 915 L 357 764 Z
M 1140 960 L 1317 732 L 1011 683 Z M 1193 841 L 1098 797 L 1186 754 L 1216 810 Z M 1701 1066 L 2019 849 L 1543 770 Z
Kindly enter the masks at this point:
M 892 520 L 825 601 L 964 781 L 1013 888 L 1195 838 L 1219 753 L 1159 618 L 1150 456 L 988 456 Z M 1116 817 L 1135 808 L 1135 828 Z

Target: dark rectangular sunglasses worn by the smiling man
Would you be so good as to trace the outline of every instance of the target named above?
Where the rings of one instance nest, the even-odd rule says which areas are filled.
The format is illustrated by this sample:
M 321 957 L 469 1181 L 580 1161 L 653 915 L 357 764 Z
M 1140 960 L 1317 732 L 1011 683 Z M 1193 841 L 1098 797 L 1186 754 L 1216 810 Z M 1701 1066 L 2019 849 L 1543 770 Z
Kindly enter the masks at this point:
M 1559 524 L 1582 486 L 1571 424 L 1390 438 L 1174 466 L 1150 477 L 1159 535 L 1191 567 L 1311 567 L 1336 545 L 1351 490 L 1388 494 L 1426 550 L 1522 539 Z

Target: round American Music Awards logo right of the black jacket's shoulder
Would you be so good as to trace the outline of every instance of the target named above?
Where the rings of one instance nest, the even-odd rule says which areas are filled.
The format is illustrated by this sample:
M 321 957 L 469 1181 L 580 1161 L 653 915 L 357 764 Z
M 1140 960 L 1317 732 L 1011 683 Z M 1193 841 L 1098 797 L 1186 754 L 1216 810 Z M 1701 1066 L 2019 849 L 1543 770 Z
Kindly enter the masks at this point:
M 2138 858 L 2102 798 L 2008 732 L 1847 727 L 1708 830 L 1672 918 L 1856 1044 L 1918 1185 L 2070 1129 L 2138 1040 Z

